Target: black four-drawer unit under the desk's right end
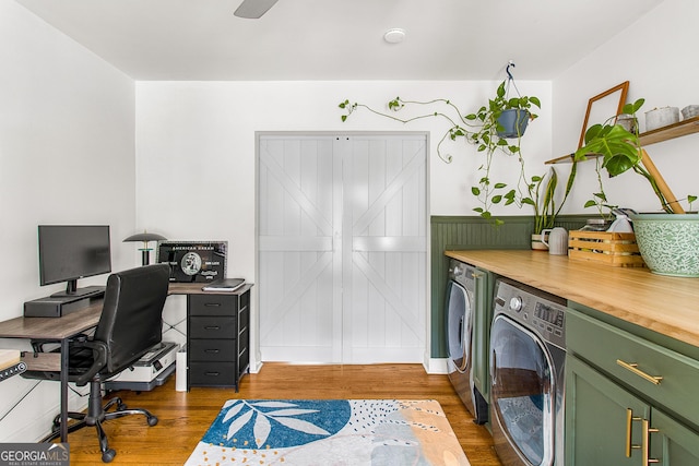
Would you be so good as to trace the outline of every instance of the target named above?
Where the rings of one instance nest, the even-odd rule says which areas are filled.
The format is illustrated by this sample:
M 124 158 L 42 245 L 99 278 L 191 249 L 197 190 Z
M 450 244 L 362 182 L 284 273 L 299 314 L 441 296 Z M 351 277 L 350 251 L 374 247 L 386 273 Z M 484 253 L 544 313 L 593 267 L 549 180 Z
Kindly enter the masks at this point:
M 250 287 L 187 296 L 187 390 L 238 391 L 250 366 Z

